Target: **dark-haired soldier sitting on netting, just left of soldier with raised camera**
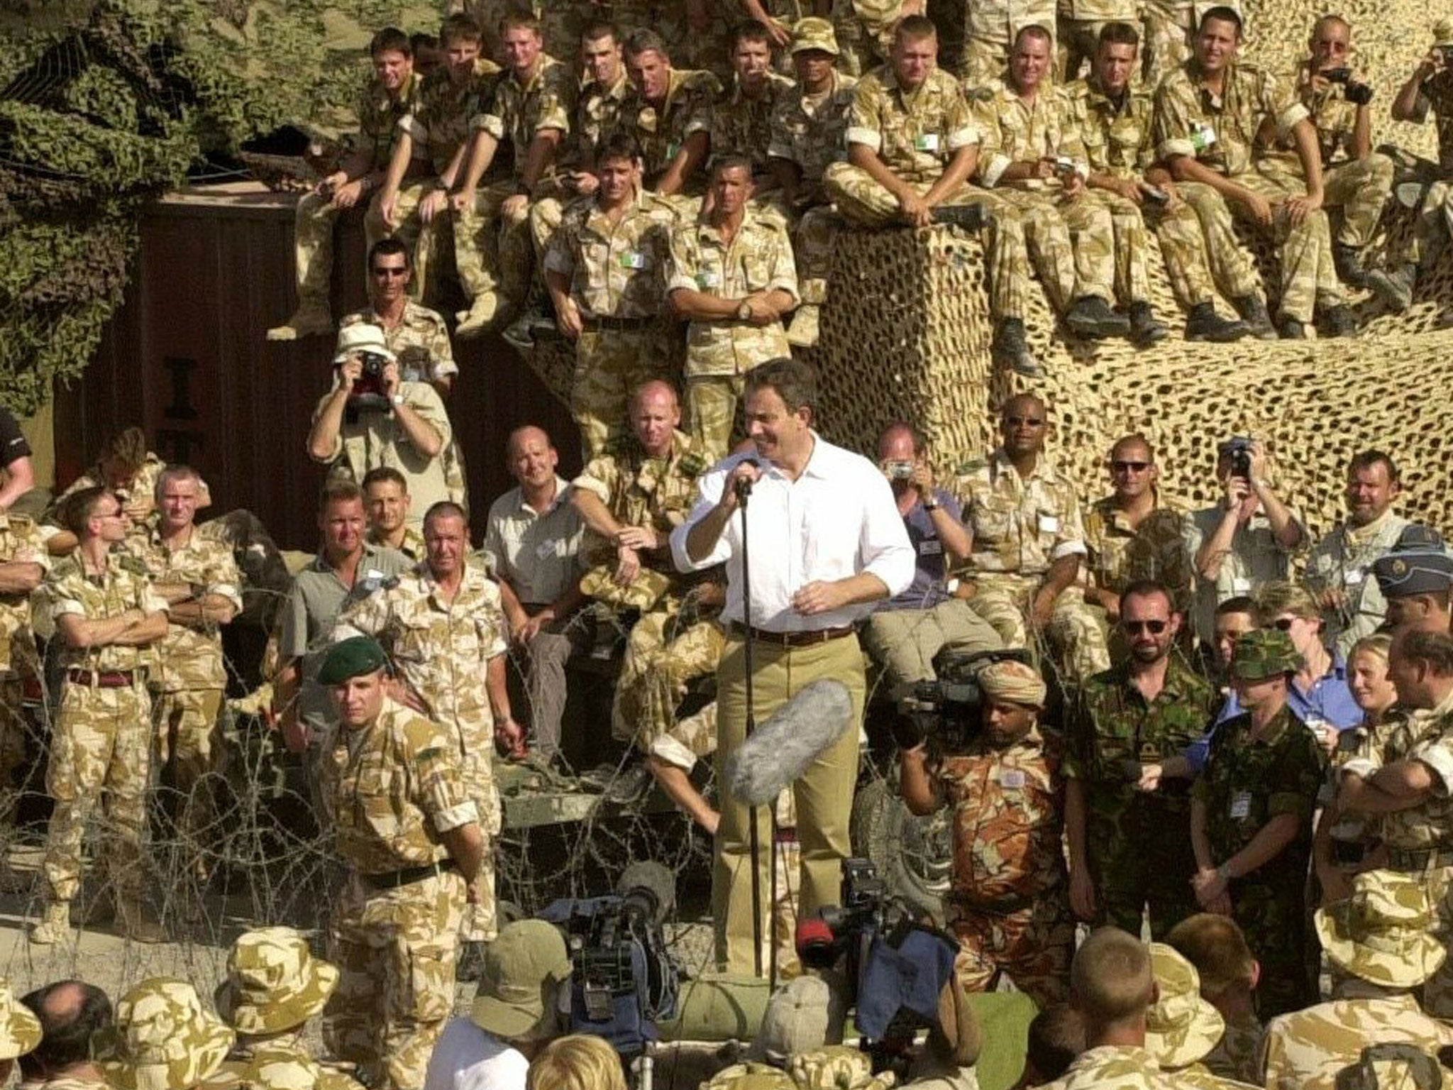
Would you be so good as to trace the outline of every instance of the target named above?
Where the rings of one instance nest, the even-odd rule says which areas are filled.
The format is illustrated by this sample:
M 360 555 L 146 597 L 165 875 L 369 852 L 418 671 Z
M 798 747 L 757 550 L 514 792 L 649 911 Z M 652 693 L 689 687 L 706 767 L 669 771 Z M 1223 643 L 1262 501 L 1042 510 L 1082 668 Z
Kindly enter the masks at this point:
M 1283 337 L 1305 337 L 1314 312 L 1325 336 L 1348 336 L 1357 326 L 1337 283 L 1332 238 L 1321 211 L 1325 190 L 1316 129 L 1290 87 L 1238 60 L 1239 47 L 1239 15 L 1218 6 L 1202 16 L 1194 57 L 1155 90 L 1157 150 L 1209 235 L 1229 240 L 1229 217 L 1235 215 L 1276 244 L 1282 259 L 1276 328 Z M 1295 141 L 1305 182 L 1277 180 L 1255 169 L 1254 144 L 1266 124 Z M 1267 336 L 1260 296 L 1239 295 L 1232 302 L 1258 336 Z

